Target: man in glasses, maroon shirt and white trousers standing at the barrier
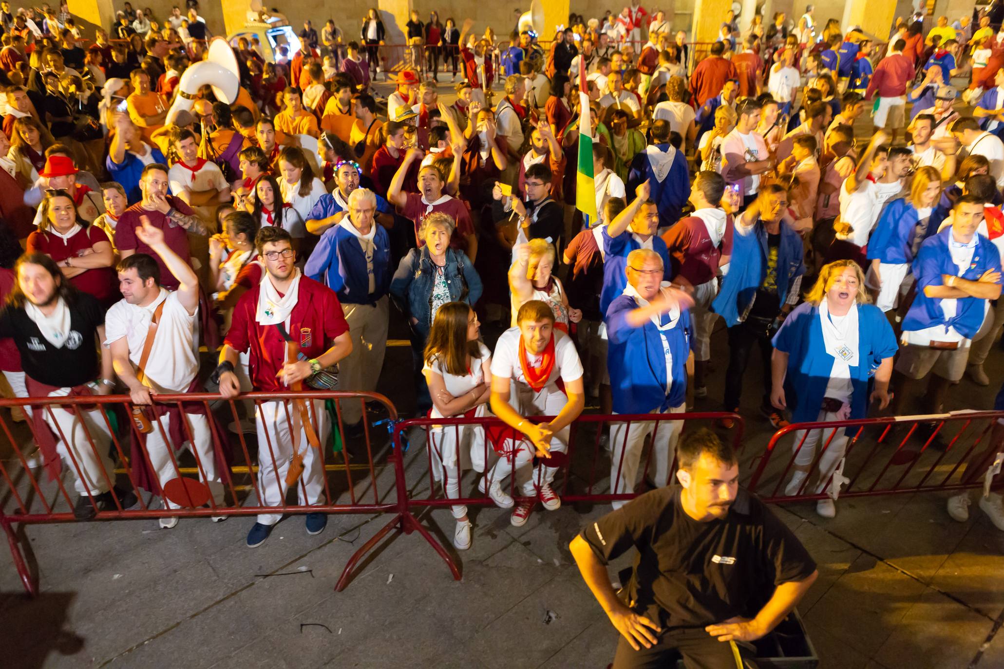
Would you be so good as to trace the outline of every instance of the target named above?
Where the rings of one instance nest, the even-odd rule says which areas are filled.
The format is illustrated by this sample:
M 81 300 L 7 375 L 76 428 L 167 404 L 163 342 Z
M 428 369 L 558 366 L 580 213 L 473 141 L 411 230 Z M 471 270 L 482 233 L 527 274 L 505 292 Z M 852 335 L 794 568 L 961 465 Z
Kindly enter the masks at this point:
M 255 390 L 288 392 L 352 350 L 338 298 L 330 289 L 301 276 L 293 264 L 296 252 L 289 233 L 278 227 L 262 228 L 255 246 L 265 264 L 265 276 L 237 302 L 214 374 L 219 380 L 220 394 L 227 399 L 240 392 L 234 367 L 243 351 L 250 353 Z M 287 358 L 287 341 L 299 344 L 300 359 Z M 259 448 L 259 504 L 262 507 L 285 504 L 286 473 L 296 453 L 303 455 L 301 480 L 295 484 L 299 504 L 321 504 L 323 463 L 319 448 L 310 442 L 327 442 L 324 401 L 263 401 L 255 421 L 258 443 L 270 444 L 269 448 Z M 308 430 L 305 422 L 313 429 Z M 258 516 L 258 522 L 248 533 L 248 547 L 261 546 L 281 518 L 281 512 Z M 307 534 L 320 534 L 326 525 L 325 515 L 307 514 Z

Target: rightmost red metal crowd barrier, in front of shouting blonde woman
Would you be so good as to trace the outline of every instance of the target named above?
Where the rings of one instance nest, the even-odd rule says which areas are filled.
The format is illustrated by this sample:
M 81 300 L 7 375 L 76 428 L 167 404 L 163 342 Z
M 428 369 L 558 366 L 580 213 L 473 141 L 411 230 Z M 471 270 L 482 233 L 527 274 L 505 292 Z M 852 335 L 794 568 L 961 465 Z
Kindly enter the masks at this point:
M 775 504 L 826 498 L 833 479 L 827 478 L 819 487 L 818 472 L 824 459 L 824 470 L 836 467 L 840 480 L 846 483 L 838 490 L 841 497 L 979 487 L 1002 449 L 1002 421 L 1004 411 L 958 411 L 793 423 L 771 437 L 767 449 L 758 456 L 748 488 Z M 806 445 L 811 444 L 810 436 L 813 440 L 818 437 L 819 445 L 809 458 L 809 476 L 797 490 L 787 490 L 793 494 L 786 494 L 795 460 L 803 448 L 811 448 Z M 777 452 L 782 441 L 791 444 L 790 457 L 787 451 Z M 842 456 L 840 448 L 844 448 Z M 841 459 L 842 467 L 838 466 Z

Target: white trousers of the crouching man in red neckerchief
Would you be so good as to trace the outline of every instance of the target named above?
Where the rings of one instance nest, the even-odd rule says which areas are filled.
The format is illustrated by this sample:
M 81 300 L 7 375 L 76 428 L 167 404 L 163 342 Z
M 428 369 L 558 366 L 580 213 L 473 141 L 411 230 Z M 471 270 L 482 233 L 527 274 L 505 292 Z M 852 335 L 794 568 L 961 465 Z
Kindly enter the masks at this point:
M 513 406 L 519 407 L 520 414 L 524 416 L 557 415 L 561 412 L 565 402 L 568 401 L 568 397 L 556 385 L 545 386 L 540 392 L 531 391 L 526 393 L 520 393 L 515 383 L 511 387 L 510 401 L 513 403 Z M 562 429 L 551 435 L 550 452 L 567 452 L 568 432 L 569 426 L 565 425 Z M 532 496 L 536 494 L 538 486 L 544 484 L 550 485 L 554 480 L 554 475 L 557 473 L 558 467 L 546 466 L 544 463 L 547 461 L 547 458 L 540 458 L 540 464 L 537 465 L 536 471 L 531 471 L 531 467 L 526 466 L 533 459 L 536 449 L 525 438 L 520 439 L 518 442 L 506 439 L 504 447 L 507 453 L 514 451 L 515 454 L 512 456 L 506 454 L 499 457 L 499 461 L 492 467 L 490 474 L 493 481 L 501 481 L 515 469 L 516 485 L 522 488 L 523 494 Z

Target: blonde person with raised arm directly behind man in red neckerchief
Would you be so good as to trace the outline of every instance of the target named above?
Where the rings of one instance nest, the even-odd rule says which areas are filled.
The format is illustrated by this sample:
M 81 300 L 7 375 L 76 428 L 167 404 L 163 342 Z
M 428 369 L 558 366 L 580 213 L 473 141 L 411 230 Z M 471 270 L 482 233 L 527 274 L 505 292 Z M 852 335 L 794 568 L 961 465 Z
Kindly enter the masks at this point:
M 530 300 L 546 303 L 554 312 L 554 327 L 565 334 L 568 323 L 582 320 L 582 312 L 568 306 L 561 280 L 551 271 L 554 269 L 554 245 L 547 240 L 530 240 L 513 249 L 513 263 L 509 269 L 509 290 L 512 300 L 512 326 L 516 327 L 519 308 Z

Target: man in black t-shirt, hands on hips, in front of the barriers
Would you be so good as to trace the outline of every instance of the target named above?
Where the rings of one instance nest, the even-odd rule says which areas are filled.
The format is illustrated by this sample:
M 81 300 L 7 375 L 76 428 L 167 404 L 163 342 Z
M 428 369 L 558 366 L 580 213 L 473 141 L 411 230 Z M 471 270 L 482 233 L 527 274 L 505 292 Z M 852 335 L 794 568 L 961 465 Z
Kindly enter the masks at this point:
M 685 434 L 677 458 L 681 487 L 636 497 L 569 546 L 622 637 L 613 669 L 672 666 L 677 655 L 687 667 L 755 667 L 749 642 L 791 612 L 816 579 L 815 563 L 759 498 L 739 488 L 735 453 L 713 432 Z M 639 556 L 625 603 L 606 564 L 633 546 Z

